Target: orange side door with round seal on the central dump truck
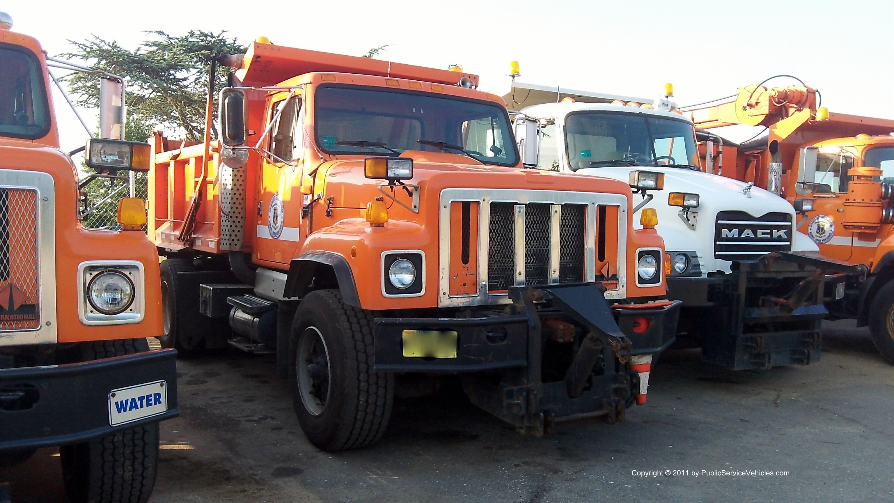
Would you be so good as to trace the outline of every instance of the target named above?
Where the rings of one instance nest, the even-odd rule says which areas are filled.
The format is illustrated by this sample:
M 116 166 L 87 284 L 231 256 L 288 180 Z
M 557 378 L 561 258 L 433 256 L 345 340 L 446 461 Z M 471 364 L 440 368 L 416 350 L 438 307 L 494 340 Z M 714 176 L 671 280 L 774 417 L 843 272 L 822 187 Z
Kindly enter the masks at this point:
M 299 91 L 274 97 L 268 112 L 268 155 L 261 163 L 257 198 L 256 257 L 287 264 L 304 237 L 301 223 L 301 168 L 304 110 Z M 269 124 L 269 123 L 268 123 Z

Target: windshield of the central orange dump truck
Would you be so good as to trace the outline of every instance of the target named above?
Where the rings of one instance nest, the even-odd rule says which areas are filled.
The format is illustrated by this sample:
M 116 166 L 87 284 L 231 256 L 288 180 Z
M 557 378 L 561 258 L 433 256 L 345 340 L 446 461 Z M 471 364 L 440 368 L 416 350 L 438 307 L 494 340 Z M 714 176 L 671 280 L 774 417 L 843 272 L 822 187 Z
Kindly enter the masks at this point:
M 509 115 L 486 101 L 329 85 L 316 90 L 315 114 L 316 143 L 328 154 L 427 150 L 518 162 Z

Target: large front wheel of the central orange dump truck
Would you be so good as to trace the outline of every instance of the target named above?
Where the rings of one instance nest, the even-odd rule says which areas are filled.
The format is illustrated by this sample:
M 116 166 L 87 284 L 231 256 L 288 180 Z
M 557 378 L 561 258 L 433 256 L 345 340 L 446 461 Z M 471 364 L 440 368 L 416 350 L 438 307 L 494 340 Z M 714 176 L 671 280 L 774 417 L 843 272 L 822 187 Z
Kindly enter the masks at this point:
M 382 438 L 391 417 L 394 375 L 373 370 L 373 317 L 316 290 L 299 304 L 289 345 L 292 402 L 301 430 L 325 451 Z

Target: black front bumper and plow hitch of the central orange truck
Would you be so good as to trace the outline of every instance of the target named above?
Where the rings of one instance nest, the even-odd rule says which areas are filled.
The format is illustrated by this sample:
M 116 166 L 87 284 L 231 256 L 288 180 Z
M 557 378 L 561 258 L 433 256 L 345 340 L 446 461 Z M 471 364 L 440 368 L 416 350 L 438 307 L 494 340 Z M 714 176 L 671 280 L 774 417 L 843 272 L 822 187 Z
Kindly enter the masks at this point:
M 643 394 L 630 359 L 671 345 L 681 306 L 611 306 L 595 284 L 511 287 L 509 296 L 505 311 L 478 318 L 376 318 L 375 369 L 461 373 L 473 404 L 535 435 L 564 421 L 622 422 Z M 571 340 L 556 326 L 573 327 Z M 456 357 L 405 356 L 404 330 L 456 332 Z

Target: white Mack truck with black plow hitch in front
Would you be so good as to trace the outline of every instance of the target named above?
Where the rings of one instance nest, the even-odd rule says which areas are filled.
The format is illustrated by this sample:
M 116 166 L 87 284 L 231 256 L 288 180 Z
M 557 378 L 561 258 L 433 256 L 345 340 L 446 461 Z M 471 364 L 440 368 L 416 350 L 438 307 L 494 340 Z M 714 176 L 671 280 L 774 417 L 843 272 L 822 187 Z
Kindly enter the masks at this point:
M 569 99 L 537 104 L 530 97 L 540 89 L 514 82 L 505 97 L 526 97 L 529 105 L 520 109 L 517 132 L 527 121 L 538 124 L 538 137 L 524 140 L 538 145 L 531 167 L 619 181 L 644 169 L 662 175 L 664 191 L 639 206 L 658 215 L 668 295 L 683 302 L 679 337 L 695 339 L 705 361 L 735 370 L 820 357 L 823 282 L 834 291 L 845 277 L 820 278 L 817 271 L 833 275 L 853 268 L 814 260 L 817 247 L 797 232 L 791 204 L 701 172 L 693 124 L 677 112 L 639 107 L 645 100 L 628 98 L 634 107 L 613 96 L 568 90 Z M 543 98 L 550 96 L 554 101 L 554 94 Z M 671 204 L 670 193 L 679 194 L 678 203 Z M 693 206 L 682 206 L 683 194 L 695 198 Z M 805 285 L 812 293 L 796 295 Z M 786 303 L 795 296 L 797 303 Z

